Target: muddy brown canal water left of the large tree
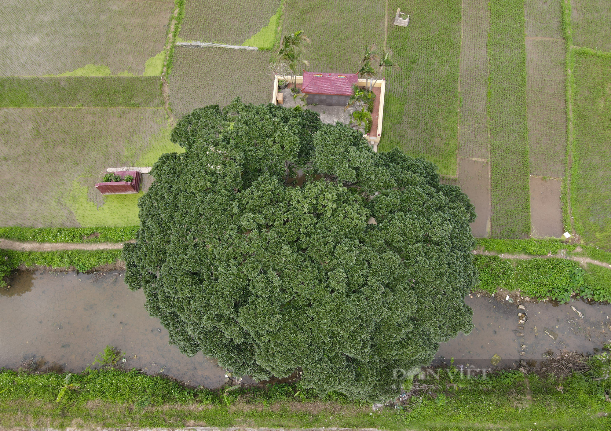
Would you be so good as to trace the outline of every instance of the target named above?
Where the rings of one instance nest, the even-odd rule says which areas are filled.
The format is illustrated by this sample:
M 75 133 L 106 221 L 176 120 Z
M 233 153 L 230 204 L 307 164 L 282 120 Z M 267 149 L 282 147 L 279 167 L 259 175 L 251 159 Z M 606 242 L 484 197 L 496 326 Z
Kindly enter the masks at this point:
M 0 289 L 0 367 L 24 363 L 41 371 L 79 372 L 106 345 L 125 352 L 122 368 L 165 374 L 189 385 L 218 388 L 225 371 L 198 353 L 169 345 L 165 328 L 144 309 L 144 292 L 132 292 L 123 273 L 21 272 Z

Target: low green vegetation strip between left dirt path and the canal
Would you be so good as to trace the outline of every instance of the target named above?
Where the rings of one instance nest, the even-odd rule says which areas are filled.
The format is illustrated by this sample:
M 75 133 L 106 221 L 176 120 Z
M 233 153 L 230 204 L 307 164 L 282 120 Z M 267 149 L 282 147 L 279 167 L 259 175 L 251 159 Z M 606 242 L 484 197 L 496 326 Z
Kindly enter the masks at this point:
M 0 278 L 7 277 L 16 267 L 48 266 L 50 268 L 74 268 L 86 272 L 98 266 L 117 263 L 122 250 L 64 250 L 59 252 L 16 252 L 0 250 Z

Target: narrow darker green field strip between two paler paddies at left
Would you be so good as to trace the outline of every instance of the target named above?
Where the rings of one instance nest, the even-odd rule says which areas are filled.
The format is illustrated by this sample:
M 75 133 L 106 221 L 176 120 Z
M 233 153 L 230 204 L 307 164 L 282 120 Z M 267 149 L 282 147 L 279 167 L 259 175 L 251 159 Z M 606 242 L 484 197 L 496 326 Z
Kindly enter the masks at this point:
M 0 78 L 0 107 L 163 107 L 158 76 Z

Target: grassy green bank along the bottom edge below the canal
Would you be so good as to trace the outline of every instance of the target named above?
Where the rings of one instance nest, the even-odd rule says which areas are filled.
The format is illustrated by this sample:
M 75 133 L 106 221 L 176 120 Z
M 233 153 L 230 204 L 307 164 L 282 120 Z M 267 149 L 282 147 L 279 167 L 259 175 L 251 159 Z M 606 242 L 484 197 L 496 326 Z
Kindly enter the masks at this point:
M 350 427 L 386 430 L 602 430 L 611 404 L 566 380 L 521 372 L 488 374 L 450 383 L 447 372 L 411 411 L 382 408 L 328 394 L 323 399 L 296 385 L 223 391 L 188 388 L 137 371 L 102 370 L 71 375 L 0 372 L 0 426 L 11 427 Z M 444 377 L 445 375 L 445 377 Z M 563 392 L 557 387 L 563 385 Z M 462 386 L 462 385 L 461 385 Z M 455 389 L 456 388 L 456 389 Z M 530 396 L 531 399 L 527 398 Z M 228 406 L 229 404 L 229 406 Z M 536 425 L 535 425 L 536 423 Z

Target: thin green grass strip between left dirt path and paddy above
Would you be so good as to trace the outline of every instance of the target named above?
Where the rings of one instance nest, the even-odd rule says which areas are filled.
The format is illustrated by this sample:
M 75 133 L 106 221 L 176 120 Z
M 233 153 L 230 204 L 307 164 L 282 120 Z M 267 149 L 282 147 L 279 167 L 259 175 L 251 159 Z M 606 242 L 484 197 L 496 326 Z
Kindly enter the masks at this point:
M 124 228 L 0 228 L 0 238 L 36 242 L 123 242 L 136 237 L 138 226 Z

